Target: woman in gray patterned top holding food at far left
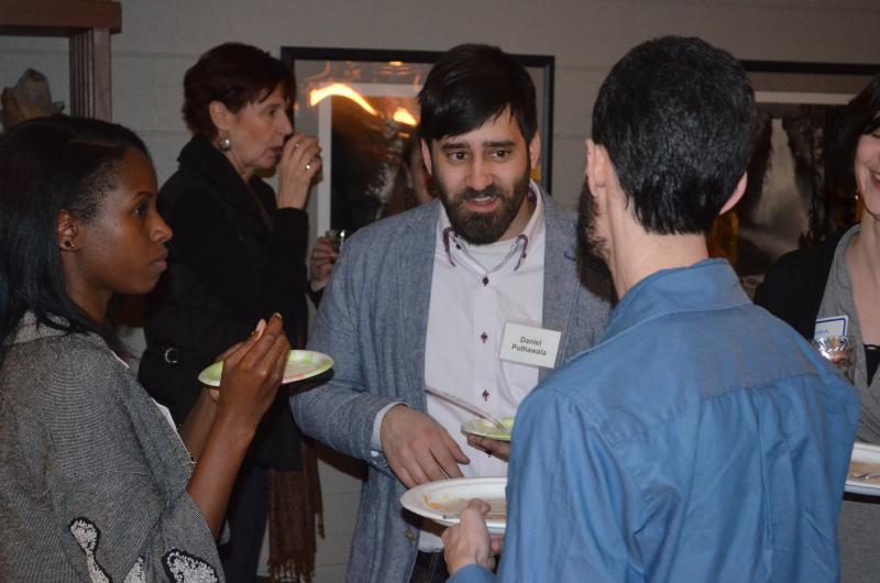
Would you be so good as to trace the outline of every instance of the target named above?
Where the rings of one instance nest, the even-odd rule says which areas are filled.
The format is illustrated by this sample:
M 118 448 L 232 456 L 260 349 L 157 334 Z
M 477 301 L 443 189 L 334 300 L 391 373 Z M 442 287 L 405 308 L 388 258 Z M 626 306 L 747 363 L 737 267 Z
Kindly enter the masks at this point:
M 215 538 L 289 344 L 280 318 L 261 323 L 177 433 L 106 321 L 113 294 L 165 270 L 155 197 L 120 125 L 0 136 L 0 581 L 223 580 Z

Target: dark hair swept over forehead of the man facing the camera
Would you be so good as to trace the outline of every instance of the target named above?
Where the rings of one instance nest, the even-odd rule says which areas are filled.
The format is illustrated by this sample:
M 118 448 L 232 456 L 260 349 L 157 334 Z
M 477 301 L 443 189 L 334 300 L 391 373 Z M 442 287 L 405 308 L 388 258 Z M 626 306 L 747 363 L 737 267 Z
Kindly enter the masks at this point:
M 526 143 L 538 130 L 535 84 L 497 46 L 462 44 L 443 53 L 419 92 L 421 136 L 428 144 L 476 130 L 506 108 Z

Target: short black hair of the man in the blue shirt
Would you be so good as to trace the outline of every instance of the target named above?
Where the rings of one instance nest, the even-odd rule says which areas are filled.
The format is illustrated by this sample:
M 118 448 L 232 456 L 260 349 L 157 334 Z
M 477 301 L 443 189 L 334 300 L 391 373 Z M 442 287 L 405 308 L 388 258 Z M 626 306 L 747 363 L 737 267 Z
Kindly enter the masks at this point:
M 646 230 L 697 233 L 746 172 L 755 120 L 739 62 L 701 38 L 666 36 L 612 68 L 593 109 L 593 140 Z

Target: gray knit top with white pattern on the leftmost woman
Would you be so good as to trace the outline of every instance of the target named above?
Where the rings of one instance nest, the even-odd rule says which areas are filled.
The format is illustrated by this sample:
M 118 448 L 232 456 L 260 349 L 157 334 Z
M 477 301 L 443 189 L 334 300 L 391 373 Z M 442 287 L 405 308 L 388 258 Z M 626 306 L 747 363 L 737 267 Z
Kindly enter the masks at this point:
M 25 315 L 0 364 L 0 581 L 222 581 L 189 454 L 95 334 Z

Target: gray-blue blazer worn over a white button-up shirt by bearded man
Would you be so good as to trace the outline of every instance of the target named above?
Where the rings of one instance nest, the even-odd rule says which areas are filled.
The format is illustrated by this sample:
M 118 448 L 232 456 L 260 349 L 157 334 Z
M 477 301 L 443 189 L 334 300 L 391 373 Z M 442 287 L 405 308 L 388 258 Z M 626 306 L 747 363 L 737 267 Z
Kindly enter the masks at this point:
M 558 363 L 593 345 L 610 307 L 609 285 L 581 285 L 575 217 L 543 195 L 543 327 L 562 330 Z M 399 498 L 406 491 L 371 453 L 376 414 L 393 402 L 424 411 L 428 326 L 440 202 L 391 217 L 345 243 L 321 299 L 309 348 L 330 354 L 332 380 L 292 399 L 300 429 L 370 464 L 348 570 L 350 582 L 408 581 L 418 535 Z M 541 378 L 548 371 L 541 370 Z

